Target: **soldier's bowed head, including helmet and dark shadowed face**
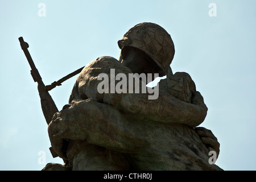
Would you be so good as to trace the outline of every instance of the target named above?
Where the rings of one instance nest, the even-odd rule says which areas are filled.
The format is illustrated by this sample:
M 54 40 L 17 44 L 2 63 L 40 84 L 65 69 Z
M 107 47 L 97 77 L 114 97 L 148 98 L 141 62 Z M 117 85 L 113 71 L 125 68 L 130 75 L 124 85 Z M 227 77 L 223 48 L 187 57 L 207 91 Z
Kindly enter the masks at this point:
M 174 43 L 164 28 L 155 23 L 140 23 L 118 41 L 119 61 L 134 73 L 159 73 L 164 76 L 174 58 Z

